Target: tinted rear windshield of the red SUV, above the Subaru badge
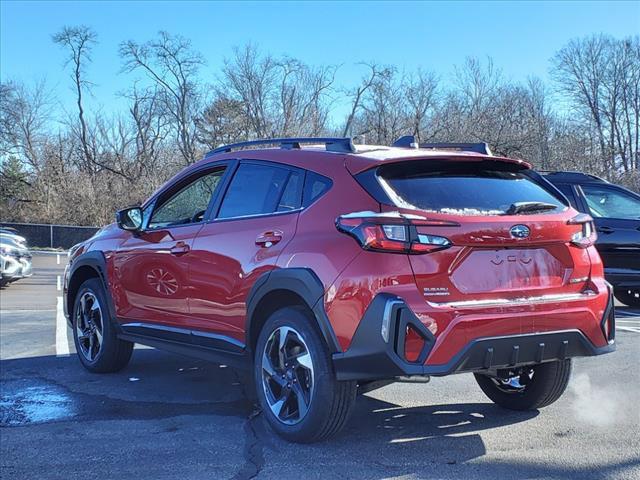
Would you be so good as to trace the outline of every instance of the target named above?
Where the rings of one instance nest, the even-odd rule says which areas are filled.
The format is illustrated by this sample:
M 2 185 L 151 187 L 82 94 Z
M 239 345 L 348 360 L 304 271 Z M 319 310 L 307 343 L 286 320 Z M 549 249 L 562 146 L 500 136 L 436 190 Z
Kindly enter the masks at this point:
M 565 208 L 525 171 L 506 163 L 412 161 L 380 167 L 377 175 L 391 201 L 402 208 L 458 215 L 504 215 L 522 202 L 547 204 L 523 214 Z

